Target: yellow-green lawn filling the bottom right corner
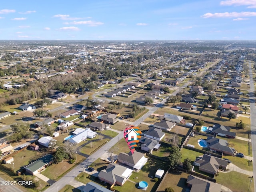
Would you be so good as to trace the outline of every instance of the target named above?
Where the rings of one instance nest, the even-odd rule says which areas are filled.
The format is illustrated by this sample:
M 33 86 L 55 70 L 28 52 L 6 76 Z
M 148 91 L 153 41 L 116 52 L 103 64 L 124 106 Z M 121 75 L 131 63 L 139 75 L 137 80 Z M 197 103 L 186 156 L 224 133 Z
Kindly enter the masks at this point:
M 254 182 L 251 182 L 251 178 L 248 175 L 238 172 L 220 172 L 218 176 L 215 176 L 216 183 L 222 184 L 228 187 L 232 191 L 248 191 L 254 192 Z

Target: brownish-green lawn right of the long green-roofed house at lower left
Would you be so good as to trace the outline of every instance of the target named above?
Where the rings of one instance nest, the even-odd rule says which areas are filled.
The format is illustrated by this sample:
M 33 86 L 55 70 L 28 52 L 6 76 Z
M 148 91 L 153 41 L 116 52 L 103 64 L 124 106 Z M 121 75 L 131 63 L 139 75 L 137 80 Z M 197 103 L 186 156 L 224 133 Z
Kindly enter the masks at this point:
M 80 156 L 78 154 L 73 154 L 73 157 L 77 157 L 77 162 L 80 162 L 83 159 L 83 156 Z M 58 164 L 52 164 L 48 166 L 41 173 L 52 180 L 57 180 L 60 176 L 62 176 L 62 174 L 67 172 L 70 168 L 72 168 L 75 165 L 76 164 L 70 164 L 68 160 L 64 160 L 63 162 L 60 162 Z

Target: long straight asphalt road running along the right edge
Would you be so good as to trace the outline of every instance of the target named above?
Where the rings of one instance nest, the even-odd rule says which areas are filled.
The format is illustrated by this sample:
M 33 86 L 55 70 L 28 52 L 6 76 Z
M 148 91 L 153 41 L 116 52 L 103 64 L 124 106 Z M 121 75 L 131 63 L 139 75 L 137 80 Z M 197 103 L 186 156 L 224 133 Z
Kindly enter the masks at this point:
M 254 176 L 254 188 L 256 188 L 256 108 L 254 99 L 254 80 L 252 74 L 253 66 L 249 63 L 249 76 L 250 76 L 250 90 L 249 92 L 249 102 L 250 102 L 250 118 L 251 118 L 251 140 L 252 140 L 252 166 L 253 166 L 253 176 Z

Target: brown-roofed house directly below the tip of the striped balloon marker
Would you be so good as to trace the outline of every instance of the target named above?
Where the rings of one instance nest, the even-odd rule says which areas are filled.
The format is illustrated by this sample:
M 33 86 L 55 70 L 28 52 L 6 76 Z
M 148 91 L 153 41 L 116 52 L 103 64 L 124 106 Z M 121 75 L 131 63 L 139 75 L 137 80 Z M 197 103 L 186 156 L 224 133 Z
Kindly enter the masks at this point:
M 134 151 L 129 153 L 120 153 L 118 155 L 117 161 L 126 165 L 130 166 L 133 170 L 140 170 L 148 161 L 148 158 L 145 157 L 145 153 L 140 153 Z

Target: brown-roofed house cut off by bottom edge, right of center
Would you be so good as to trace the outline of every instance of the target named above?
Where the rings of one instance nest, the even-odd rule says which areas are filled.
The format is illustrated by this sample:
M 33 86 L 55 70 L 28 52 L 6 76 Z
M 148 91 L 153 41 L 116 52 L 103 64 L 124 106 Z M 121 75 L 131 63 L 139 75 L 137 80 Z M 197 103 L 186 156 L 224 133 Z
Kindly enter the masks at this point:
M 200 177 L 189 175 L 187 179 L 188 188 L 190 192 L 221 192 L 222 185 L 214 183 Z

